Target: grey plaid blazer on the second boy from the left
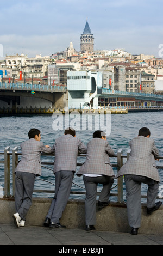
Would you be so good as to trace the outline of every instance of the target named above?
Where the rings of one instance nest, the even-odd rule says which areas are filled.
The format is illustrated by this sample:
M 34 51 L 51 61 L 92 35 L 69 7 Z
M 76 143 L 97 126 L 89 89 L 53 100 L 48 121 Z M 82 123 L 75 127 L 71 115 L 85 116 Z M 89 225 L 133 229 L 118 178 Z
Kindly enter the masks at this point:
M 55 153 L 54 173 L 59 170 L 76 172 L 78 153 L 86 154 L 86 151 L 86 145 L 77 137 L 67 134 L 57 138 L 52 147 L 52 153 Z

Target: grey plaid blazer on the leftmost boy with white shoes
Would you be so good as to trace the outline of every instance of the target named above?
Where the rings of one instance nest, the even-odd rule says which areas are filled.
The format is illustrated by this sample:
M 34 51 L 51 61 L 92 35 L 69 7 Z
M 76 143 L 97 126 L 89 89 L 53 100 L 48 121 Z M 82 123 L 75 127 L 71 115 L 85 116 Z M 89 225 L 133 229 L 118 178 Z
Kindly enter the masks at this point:
M 18 163 L 16 172 L 34 173 L 37 176 L 41 175 L 41 152 L 51 153 L 51 147 L 46 148 L 43 142 L 36 141 L 34 138 L 22 142 L 21 145 L 22 157 Z

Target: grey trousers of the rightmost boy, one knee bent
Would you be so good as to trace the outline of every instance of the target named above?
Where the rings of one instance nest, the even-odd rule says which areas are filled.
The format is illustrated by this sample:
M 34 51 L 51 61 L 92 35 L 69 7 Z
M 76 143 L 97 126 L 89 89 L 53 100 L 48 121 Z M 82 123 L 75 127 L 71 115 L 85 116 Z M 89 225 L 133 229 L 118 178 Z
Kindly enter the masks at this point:
M 155 200 L 159 191 L 159 182 L 140 175 L 124 175 L 126 184 L 126 204 L 128 222 L 130 227 L 139 228 L 141 225 L 141 184 L 148 185 L 147 207 L 155 206 Z

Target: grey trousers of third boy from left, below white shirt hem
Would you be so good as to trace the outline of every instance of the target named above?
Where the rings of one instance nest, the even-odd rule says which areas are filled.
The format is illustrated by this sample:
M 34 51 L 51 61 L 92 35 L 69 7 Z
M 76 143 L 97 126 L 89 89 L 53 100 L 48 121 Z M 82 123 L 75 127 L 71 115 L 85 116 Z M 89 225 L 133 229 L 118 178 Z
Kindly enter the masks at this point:
M 114 183 L 114 178 L 111 176 L 97 176 L 89 177 L 83 175 L 86 197 L 85 197 L 85 224 L 96 224 L 96 196 L 98 183 L 103 185 L 102 191 L 99 196 L 99 201 L 108 202 L 110 197 L 110 190 Z

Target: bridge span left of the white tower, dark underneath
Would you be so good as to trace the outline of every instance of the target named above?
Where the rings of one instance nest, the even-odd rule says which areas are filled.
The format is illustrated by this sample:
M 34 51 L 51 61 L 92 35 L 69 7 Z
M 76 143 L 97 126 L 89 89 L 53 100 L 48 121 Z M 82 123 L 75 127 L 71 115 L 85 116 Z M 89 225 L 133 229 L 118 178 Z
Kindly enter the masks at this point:
M 0 109 L 63 108 L 66 106 L 65 86 L 45 84 L 0 83 Z M 25 111 L 26 113 L 26 111 Z

